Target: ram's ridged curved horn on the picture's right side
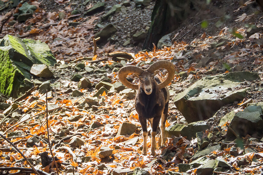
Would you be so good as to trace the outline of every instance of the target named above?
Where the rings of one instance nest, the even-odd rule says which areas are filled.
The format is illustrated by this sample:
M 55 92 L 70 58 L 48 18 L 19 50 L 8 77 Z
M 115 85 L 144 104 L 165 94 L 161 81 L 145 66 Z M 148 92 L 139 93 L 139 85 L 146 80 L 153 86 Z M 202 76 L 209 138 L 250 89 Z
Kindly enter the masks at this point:
M 148 67 L 147 71 L 154 73 L 155 70 L 158 70 L 159 68 L 164 68 L 167 70 L 168 75 L 166 79 L 158 84 L 158 88 L 162 89 L 165 86 L 167 86 L 173 79 L 174 79 L 174 65 L 170 61 L 167 60 L 161 60 L 153 63 L 150 67 Z

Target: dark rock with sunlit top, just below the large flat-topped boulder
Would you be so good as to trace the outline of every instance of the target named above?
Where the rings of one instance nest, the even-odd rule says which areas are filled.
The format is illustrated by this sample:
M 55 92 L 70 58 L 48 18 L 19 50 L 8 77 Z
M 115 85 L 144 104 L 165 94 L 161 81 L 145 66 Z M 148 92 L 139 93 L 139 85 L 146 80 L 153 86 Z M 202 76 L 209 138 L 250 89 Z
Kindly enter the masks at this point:
M 188 126 L 183 127 L 181 130 L 181 136 L 186 136 L 187 139 L 191 140 L 192 137 L 196 138 L 196 133 L 201 131 L 206 131 L 209 129 L 209 125 L 204 121 L 198 121 L 188 124 Z

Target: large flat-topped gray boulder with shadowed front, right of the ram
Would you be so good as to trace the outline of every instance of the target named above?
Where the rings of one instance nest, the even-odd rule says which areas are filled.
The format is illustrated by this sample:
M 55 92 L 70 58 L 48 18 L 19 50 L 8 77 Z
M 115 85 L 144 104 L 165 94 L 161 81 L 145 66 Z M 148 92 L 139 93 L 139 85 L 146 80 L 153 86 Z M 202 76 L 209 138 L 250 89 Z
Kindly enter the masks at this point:
M 221 106 L 244 99 L 243 81 L 260 79 L 257 73 L 230 72 L 206 76 L 174 97 L 177 109 L 188 123 L 212 117 Z

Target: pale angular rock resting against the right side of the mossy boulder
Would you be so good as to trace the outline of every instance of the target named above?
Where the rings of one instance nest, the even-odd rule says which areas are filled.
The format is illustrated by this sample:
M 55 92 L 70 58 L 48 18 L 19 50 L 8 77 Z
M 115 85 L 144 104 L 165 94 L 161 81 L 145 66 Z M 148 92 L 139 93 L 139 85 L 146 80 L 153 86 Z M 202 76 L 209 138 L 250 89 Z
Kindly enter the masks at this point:
M 33 64 L 30 73 L 41 78 L 50 78 L 53 76 L 53 73 L 45 64 Z

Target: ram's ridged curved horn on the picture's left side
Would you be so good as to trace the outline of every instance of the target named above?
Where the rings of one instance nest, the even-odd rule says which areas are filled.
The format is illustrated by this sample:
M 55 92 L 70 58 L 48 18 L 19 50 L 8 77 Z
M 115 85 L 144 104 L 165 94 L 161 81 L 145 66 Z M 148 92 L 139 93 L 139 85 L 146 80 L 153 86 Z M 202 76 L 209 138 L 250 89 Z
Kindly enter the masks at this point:
M 131 89 L 139 89 L 139 85 L 128 82 L 128 80 L 126 79 L 126 76 L 129 73 L 136 73 L 138 75 L 141 75 L 143 72 L 144 70 L 137 66 L 124 66 L 119 70 L 118 76 L 119 76 L 119 80 L 122 82 L 124 86 L 131 88 Z

